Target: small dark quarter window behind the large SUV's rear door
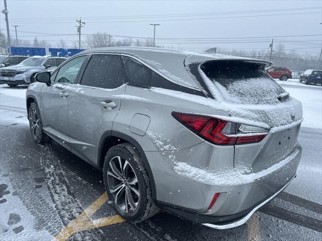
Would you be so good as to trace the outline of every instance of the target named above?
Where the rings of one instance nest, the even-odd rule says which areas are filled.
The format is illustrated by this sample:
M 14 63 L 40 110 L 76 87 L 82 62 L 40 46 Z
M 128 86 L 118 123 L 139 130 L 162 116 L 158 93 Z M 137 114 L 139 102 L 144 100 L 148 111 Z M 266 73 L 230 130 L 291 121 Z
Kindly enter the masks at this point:
M 122 56 L 124 72 L 130 84 L 140 87 L 151 87 L 154 71 L 136 61 L 135 59 Z

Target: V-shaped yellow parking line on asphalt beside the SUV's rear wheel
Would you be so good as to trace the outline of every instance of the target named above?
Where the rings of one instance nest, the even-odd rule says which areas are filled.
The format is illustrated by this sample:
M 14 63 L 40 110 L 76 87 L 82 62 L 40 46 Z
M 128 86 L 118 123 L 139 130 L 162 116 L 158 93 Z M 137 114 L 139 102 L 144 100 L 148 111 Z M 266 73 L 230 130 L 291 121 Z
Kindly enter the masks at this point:
M 84 212 L 82 212 L 74 220 L 71 220 L 68 225 L 58 233 L 54 240 L 65 241 L 73 232 L 90 230 L 97 227 L 103 227 L 114 223 L 124 222 L 120 215 L 104 217 L 92 220 L 91 216 L 108 200 L 107 193 L 103 193 L 95 202 L 93 202 Z

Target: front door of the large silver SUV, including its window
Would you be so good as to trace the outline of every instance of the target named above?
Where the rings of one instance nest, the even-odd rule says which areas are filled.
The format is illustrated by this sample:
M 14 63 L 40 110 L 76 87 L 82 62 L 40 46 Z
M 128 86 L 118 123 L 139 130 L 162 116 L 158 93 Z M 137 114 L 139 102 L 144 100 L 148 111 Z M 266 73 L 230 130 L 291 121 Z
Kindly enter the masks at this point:
M 67 104 L 69 89 L 78 78 L 79 70 L 87 56 L 78 56 L 55 71 L 51 76 L 52 83 L 41 89 L 40 108 L 42 108 L 43 128 L 55 136 L 57 141 L 68 144 Z

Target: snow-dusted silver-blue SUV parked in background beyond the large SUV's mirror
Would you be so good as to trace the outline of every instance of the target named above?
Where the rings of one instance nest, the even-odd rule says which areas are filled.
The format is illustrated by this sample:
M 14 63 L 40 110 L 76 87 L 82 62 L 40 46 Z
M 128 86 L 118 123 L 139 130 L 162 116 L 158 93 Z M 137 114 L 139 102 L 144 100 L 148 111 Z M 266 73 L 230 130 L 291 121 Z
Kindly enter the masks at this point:
M 34 77 L 42 71 L 53 71 L 64 62 L 64 57 L 33 56 L 15 66 L 0 69 L 0 84 L 17 87 L 19 84 L 30 84 Z

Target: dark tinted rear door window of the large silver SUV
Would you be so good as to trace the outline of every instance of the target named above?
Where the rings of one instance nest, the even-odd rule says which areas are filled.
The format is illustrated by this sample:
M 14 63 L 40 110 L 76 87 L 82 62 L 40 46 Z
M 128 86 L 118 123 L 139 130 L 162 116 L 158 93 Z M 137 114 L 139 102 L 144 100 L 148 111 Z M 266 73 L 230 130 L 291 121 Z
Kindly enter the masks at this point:
M 119 55 L 93 55 L 87 65 L 81 84 L 113 89 L 123 84 L 121 57 Z

